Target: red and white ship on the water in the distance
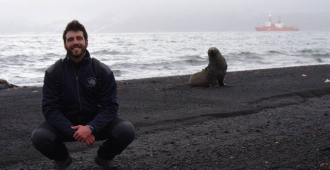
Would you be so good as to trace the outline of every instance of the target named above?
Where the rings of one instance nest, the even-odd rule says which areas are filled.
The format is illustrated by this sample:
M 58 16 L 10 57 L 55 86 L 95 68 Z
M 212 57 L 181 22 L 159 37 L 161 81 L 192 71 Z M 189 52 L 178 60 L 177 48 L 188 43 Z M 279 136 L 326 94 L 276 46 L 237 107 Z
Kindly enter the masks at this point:
M 269 21 L 267 21 L 262 27 L 255 27 L 256 31 L 290 31 L 299 30 L 298 26 L 285 26 L 280 22 L 280 18 L 276 22 L 271 22 L 271 15 L 269 15 Z

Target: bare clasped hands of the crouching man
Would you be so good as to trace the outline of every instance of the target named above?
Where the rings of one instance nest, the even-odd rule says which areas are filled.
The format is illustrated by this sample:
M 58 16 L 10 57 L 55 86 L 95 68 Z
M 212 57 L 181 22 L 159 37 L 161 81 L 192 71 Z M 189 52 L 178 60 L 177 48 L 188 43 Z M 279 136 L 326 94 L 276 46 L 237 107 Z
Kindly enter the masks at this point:
M 91 144 L 95 141 L 95 136 L 91 134 L 91 129 L 89 125 L 76 125 L 71 126 L 72 129 L 75 130 L 73 134 L 73 138 L 80 142 L 85 142 L 87 146 L 91 146 Z

